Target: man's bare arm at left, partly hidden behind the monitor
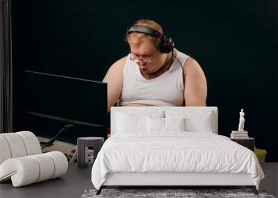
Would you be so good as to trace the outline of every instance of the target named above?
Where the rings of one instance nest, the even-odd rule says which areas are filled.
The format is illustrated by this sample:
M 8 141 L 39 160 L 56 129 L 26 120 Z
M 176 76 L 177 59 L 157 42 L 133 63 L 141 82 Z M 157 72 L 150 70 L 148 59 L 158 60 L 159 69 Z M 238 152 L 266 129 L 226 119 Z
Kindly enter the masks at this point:
M 111 107 L 115 105 L 120 95 L 122 94 L 122 82 L 123 82 L 123 71 L 124 63 L 126 62 L 126 57 L 117 60 L 111 67 L 108 69 L 106 76 L 104 77 L 103 82 L 107 83 L 107 110 L 111 110 Z

